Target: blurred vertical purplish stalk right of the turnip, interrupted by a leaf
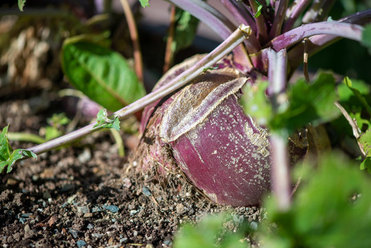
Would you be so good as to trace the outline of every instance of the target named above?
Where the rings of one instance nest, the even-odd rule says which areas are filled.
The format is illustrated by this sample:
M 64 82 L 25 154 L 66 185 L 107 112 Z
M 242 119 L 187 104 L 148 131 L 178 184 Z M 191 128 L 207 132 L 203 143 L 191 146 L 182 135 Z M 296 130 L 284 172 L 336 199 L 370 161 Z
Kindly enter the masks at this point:
M 286 50 L 275 52 L 270 49 L 268 50 L 268 58 L 268 91 L 271 91 L 273 111 L 277 112 L 278 108 L 286 102 Z M 277 198 L 278 208 L 285 211 L 290 207 L 287 138 L 284 134 L 276 134 L 273 132 L 269 140 L 271 142 L 271 178 L 273 194 L 275 194 Z

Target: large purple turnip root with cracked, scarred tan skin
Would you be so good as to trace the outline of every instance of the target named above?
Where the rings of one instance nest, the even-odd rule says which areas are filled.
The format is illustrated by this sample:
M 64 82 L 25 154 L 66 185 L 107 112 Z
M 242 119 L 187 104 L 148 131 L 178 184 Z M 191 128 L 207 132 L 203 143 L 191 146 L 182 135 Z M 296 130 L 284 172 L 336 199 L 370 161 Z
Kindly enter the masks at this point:
M 166 84 L 201 55 L 176 65 Z M 244 114 L 241 88 L 251 79 L 222 61 L 143 112 L 139 153 L 143 169 L 179 167 L 215 203 L 257 205 L 271 187 L 268 132 Z

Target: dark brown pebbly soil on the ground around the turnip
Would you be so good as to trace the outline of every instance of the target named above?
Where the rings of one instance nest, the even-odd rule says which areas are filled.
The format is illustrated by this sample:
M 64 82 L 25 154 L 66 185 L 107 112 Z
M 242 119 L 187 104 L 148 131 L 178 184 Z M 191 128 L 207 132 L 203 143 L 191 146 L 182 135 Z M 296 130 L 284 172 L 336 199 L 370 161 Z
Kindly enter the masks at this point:
M 27 93 L 25 93 L 27 92 Z M 48 104 L 33 112 L 33 103 Z M 46 119 L 61 112 L 55 92 L 24 90 L 0 100 L 0 127 L 38 134 Z M 16 99 L 17 97 L 17 99 Z M 72 116 L 73 117 L 73 116 Z M 126 154 L 135 149 L 133 134 L 121 133 Z M 135 142 L 134 142 L 135 143 Z M 32 143 L 11 141 L 13 148 Z M 0 240 L 3 247 L 172 247 L 185 222 L 229 210 L 236 224 L 259 219 L 255 207 L 222 207 L 198 193 L 184 178 L 158 180 L 140 172 L 127 156 L 118 156 L 109 132 L 28 159 L 1 174 Z

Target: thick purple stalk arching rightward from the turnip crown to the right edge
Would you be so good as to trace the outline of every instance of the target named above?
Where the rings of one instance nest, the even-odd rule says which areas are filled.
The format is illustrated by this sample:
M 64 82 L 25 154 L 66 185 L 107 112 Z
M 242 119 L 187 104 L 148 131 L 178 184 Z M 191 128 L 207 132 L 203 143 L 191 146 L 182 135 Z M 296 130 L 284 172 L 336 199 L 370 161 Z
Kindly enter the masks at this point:
M 361 41 L 362 32 L 363 27 L 357 24 L 341 23 L 337 21 L 310 23 L 279 35 L 279 37 L 269 42 L 266 47 L 279 51 L 290 47 L 306 37 L 311 37 L 316 34 L 332 34 L 354 41 Z

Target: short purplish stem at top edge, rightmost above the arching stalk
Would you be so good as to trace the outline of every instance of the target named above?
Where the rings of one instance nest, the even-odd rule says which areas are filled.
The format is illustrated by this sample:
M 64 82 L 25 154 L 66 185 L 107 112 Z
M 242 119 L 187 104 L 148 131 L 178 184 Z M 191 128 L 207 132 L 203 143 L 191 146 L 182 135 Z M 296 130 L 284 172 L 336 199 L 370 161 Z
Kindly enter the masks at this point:
M 304 14 L 302 23 L 314 23 L 326 20 L 335 0 L 315 0 L 309 10 Z

